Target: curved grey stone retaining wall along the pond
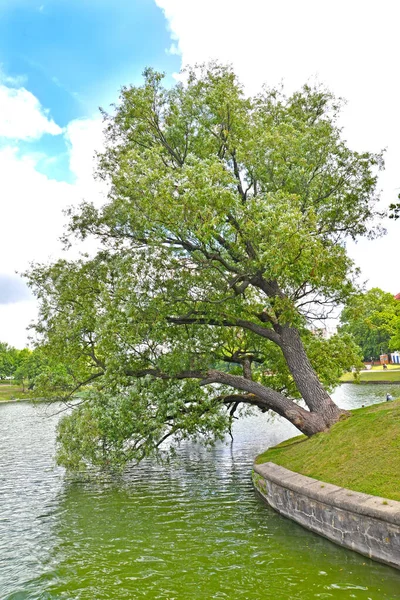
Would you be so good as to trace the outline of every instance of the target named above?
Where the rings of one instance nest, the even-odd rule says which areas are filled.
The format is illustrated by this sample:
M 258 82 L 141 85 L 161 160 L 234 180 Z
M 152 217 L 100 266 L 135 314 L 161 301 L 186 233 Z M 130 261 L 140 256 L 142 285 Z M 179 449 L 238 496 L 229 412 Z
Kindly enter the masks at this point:
M 271 462 L 254 465 L 253 483 L 285 517 L 400 569 L 400 502 L 353 492 Z

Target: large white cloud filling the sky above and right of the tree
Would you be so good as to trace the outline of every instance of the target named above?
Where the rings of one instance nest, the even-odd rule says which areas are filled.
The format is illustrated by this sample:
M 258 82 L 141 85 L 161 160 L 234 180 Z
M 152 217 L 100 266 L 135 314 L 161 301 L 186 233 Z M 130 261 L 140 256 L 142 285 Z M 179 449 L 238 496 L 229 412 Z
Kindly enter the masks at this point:
M 249 93 L 284 82 L 292 91 L 317 78 L 348 103 L 344 136 L 359 150 L 387 148 L 382 204 L 400 191 L 398 23 L 392 0 L 155 0 L 164 10 L 182 64 L 233 64 Z M 349 250 L 369 286 L 400 291 L 394 257 L 400 224 Z

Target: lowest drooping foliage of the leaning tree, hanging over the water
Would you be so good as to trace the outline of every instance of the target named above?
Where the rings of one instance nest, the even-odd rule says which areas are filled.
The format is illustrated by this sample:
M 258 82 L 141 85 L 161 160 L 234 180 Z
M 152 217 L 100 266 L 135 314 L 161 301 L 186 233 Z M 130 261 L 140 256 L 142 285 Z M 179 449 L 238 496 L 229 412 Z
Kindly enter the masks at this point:
M 120 393 L 90 391 L 61 421 L 58 460 L 75 472 L 88 466 L 115 471 L 163 456 L 160 446 L 171 435 L 169 451 L 183 439 L 212 443 L 228 424 L 219 403 L 194 382 L 141 380 Z

